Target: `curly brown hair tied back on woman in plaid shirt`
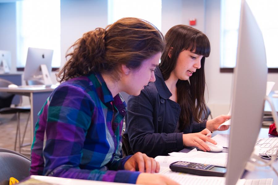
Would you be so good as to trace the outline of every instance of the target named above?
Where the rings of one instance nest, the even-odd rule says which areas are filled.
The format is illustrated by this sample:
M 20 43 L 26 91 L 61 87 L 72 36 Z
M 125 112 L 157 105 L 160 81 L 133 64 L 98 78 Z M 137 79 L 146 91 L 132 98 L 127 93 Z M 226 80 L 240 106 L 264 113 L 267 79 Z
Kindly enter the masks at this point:
M 151 23 L 138 18 L 122 18 L 105 29 L 84 33 L 66 54 L 67 62 L 56 74 L 59 82 L 90 72 L 107 73 L 119 79 L 121 64 L 136 69 L 164 50 L 164 37 Z

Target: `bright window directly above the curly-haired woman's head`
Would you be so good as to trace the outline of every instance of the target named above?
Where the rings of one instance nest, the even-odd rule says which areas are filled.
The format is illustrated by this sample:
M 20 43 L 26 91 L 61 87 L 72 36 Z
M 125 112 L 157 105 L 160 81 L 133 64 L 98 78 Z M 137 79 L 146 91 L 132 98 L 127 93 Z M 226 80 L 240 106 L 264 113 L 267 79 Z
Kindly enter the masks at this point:
M 161 30 L 161 0 L 108 0 L 108 24 L 123 17 L 137 17 Z

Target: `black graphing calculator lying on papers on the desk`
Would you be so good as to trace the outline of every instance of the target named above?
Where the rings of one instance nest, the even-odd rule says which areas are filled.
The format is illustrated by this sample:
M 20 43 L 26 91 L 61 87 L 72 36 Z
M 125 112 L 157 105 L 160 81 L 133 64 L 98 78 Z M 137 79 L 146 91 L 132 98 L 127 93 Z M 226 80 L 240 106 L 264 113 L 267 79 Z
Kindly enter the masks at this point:
M 227 169 L 224 167 L 183 161 L 173 162 L 170 164 L 170 169 L 172 171 L 189 173 L 193 175 L 217 177 L 224 177 L 227 171 Z

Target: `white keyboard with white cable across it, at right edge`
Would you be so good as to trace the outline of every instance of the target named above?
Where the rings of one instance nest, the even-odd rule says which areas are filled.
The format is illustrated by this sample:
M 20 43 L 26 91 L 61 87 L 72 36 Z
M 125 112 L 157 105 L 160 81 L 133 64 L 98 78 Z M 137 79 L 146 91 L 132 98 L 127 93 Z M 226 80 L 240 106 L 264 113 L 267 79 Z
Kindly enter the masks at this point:
M 259 140 L 256 145 L 259 146 L 259 154 L 262 156 L 273 156 L 276 154 L 277 148 L 272 148 L 274 146 L 278 146 L 278 137 L 274 138 L 263 138 Z M 271 149 L 272 148 L 272 149 Z M 269 151 L 268 151 L 269 150 Z M 267 153 L 267 154 L 266 154 Z

